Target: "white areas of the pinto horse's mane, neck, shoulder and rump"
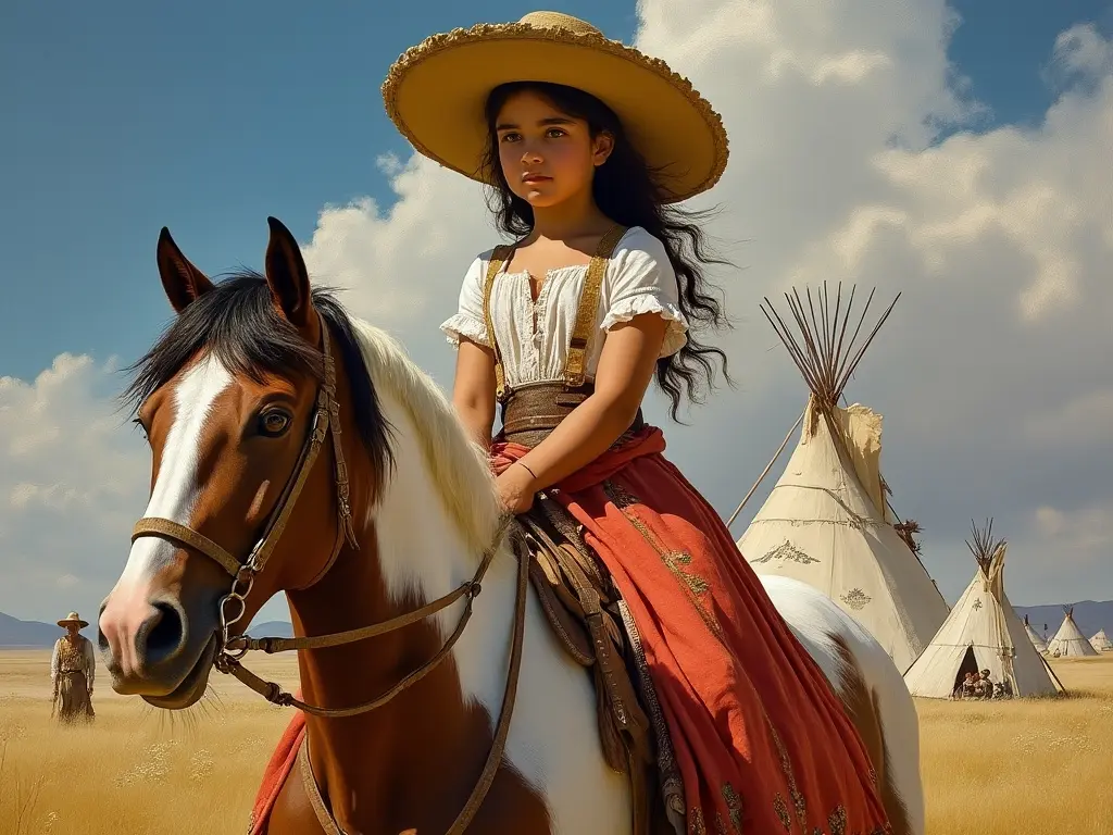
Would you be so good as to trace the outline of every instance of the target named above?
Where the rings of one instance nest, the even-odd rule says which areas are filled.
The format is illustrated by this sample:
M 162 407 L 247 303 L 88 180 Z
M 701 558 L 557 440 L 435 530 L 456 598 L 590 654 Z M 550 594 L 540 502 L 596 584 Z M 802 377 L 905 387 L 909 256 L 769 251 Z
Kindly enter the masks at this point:
M 368 371 L 393 426 L 395 470 L 372 509 L 382 571 L 392 595 L 446 595 L 474 573 L 483 538 L 499 505 L 483 453 L 466 441 L 435 383 L 377 328 L 356 322 Z M 900 794 L 923 832 L 918 723 L 912 698 L 885 651 L 819 592 L 782 578 L 761 578 L 774 603 L 838 691 L 843 661 L 830 636 L 840 636 L 876 692 Z M 514 610 L 515 558 L 492 562 L 467 628 L 453 649 L 464 698 L 484 706 L 492 728 L 502 707 Z M 436 616 L 443 637 L 463 602 Z M 545 799 L 554 833 L 630 832 L 624 776 L 608 767 L 599 740 L 589 676 L 553 637 L 529 590 L 522 670 L 506 744 L 506 760 Z

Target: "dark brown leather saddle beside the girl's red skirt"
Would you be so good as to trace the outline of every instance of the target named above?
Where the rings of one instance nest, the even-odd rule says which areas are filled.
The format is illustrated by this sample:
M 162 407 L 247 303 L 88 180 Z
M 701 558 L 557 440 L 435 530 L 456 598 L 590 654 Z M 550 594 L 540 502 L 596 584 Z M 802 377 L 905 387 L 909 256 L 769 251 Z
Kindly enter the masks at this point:
M 620 596 L 555 501 L 539 495 L 518 521 L 541 608 L 564 650 L 594 679 L 603 757 L 630 780 L 633 835 L 674 835 L 659 790 L 653 726 L 634 684 L 640 677 Z

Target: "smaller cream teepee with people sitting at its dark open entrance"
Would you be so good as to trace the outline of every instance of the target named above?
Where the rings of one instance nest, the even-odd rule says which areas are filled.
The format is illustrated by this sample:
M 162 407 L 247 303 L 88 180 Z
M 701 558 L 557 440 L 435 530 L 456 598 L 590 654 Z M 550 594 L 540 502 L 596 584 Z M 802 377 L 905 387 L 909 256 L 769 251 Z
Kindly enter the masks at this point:
M 905 674 L 913 696 L 945 699 L 967 672 L 989 670 L 994 684 L 1008 681 L 1013 696 L 1054 696 L 1055 680 L 1032 646 L 1005 593 L 1004 540 L 994 541 L 993 521 L 967 541 L 977 568 L 974 579 L 939 627 L 932 644 Z

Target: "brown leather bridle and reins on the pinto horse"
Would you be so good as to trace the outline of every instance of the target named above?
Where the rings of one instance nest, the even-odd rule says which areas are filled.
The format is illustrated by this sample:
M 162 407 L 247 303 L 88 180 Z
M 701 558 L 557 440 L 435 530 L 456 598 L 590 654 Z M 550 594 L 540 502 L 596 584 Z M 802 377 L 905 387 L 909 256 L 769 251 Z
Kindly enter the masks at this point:
M 359 548 L 356 542 L 355 529 L 352 524 L 348 472 L 347 464 L 344 461 L 344 450 L 341 445 L 339 403 L 336 400 L 336 366 L 329 347 L 328 326 L 319 312 L 317 314 L 317 318 L 321 323 L 321 353 L 324 364 L 324 379 L 317 389 L 317 402 L 314 409 L 313 420 L 309 424 L 309 432 L 302 445 L 302 452 L 298 456 L 297 464 L 283 489 L 278 503 L 275 505 L 275 509 L 267 519 L 263 536 L 250 550 L 247 558 L 243 561 L 237 560 L 225 548 L 217 544 L 205 534 L 195 531 L 193 528 L 162 517 L 144 517 L 137 521 L 131 531 L 131 541 L 135 542 L 140 537 L 159 537 L 161 539 L 168 539 L 208 557 L 232 577 L 232 588 L 228 590 L 227 595 L 220 598 L 219 602 L 220 626 L 216 636 L 217 649 L 213 658 L 213 666 L 217 670 L 223 674 L 234 676 L 274 705 L 295 707 L 298 710 L 322 718 L 339 718 L 346 716 L 357 716 L 382 707 L 403 690 L 408 689 L 411 686 L 436 669 L 436 667 L 440 666 L 440 664 L 449 656 L 449 652 L 452 651 L 452 648 L 460 639 L 460 636 L 463 635 L 464 627 L 467 625 L 467 621 L 472 616 L 472 607 L 475 598 L 480 595 L 483 577 L 486 574 L 487 568 L 490 568 L 491 562 L 502 546 L 508 532 L 511 531 L 514 517 L 508 514 L 501 520 L 494 539 L 483 551 L 483 557 L 480 560 L 479 568 L 476 568 L 471 580 L 465 581 L 447 595 L 444 595 L 443 597 L 440 597 L 417 609 L 400 615 L 398 617 L 391 618 L 390 620 L 381 623 L 372 623 L 371 626 L 351 629 L 345 632 L 333 632 L 331 635 L 316 637 L 252 638 L 246 632 L 232 635 L 232 628 L 244 617 L 247 608 L 247 596 L 252 592 L 252 589 L 255 586 L 255 578 L 266 568 L 267 561 L 270 559 L 270 554 L 274 552 L 278 540 L 282 538 L 282 534 L 286 529 L 290 513 L 294 510 L 297 498 L 302 493 L 302 489 L 305 487 L 309 472 L 313 470 L 313 465 L 316 462 L 322 448 L 325 445 L 325 441 L 328 439 L 332 439 L 333 456 L 335 462 L 334 480 L 336 483 L 336 508 L 338 515 L 336 542 L 333 547 L 328 561 L 325 563 L 325 567 L 317 574 L 317 577 L 314 578 L 307 586 L 303 587 L 303 589 L 311 588 L 328 573 L 328 570 L 336 561 L 336 557 L 338 556 L 345 541 L 347 541 L 347 543 L 355 550 L 358 550 Z M 510 719 L 514 710 L 514 699 L 518 694 L 518 679 L 521 671 L 522 644 L 525 626 L 525 597 L 529 584 L 529 560 L 518 548 L 520 532 L 516 525 L 514 527 L 511 540 L 515 544 L 515 550 L 520 553 L 518 560 L 519 569 L 516 593 L 514 599 L 513 641 L 511 645 L 510 669 L 506 675 L 506 688 L 503 695 L 502 709 L 499 714 L 499 721 L 495 726 L 494 741 L 492 744 L 491 752 L 487 755 L 486 764 L 483 767 L 483 772 L 481 773 L 479 782 L 472 790 L 466 805 L 460 812 L 456 819 L 453 822 L 452 827 L 449 829 L 449 835 L 457 835 L 459 833 L 462 833 L 482 804 L 491 784 L 494 780 L 494 776 L 501 766 L 502 755 L 506 745 L 506 737 L 510 731 Z M 451 636 L 449 636 L 441 649 L 437 650 L 437 652 L 430 660 L 410 675 L 405 676 L 381 696 L 372 699 L 371 701 L 363 703 L 362 705 L 346 708 L 329 708 L 306 704 L 295 698 L 293 694 L 283 690 L 282 687 L 274 681 L 266 681 L 265 679 L 259 678 L 240 664 L 240 659 L 247 655 L 248 651 L 253 650 L 260 650 L 268 655 L 273 655 L 275 652 L 287 652 L 299 649 L 338 647 L 365 640 L 367 638 L 387 635 L 390 632 L 397 631 L 398 629 L 403 629 L 412 623 L 416 623 L 417 621 L 424 620 L 425 618 L 446 609 L 461 599 L 465 601 L 464 610 L 460 616 L 455 630 Z M 319 818 L 323 806 L 319 808 L 318 804 L 314 804 L 314 806 Z M 324 812 L 327 814 L 327 809 L 324 809 Z M 322 824 L 326 824 L 326 832 L 339 832 L 335 822 L 331 819 L 332 816 L 329 815 L 328 817 L 329 819 L 327 822 L 322 821 Z

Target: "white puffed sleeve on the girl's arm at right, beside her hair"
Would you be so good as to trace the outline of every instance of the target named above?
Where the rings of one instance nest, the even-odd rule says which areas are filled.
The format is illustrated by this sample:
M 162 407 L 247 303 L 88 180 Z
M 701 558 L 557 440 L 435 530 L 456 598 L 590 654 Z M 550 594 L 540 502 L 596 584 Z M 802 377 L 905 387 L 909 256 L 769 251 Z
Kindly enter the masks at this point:
M 669 326 L 660 356 L 671 356 L 688 341 L 688 320 L 680 310 L 677 274 L 658 238 L 634 227 L 619 243 L 607 271 L 600 328 L 610 331 L 643 313 L 657 313 Z

